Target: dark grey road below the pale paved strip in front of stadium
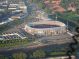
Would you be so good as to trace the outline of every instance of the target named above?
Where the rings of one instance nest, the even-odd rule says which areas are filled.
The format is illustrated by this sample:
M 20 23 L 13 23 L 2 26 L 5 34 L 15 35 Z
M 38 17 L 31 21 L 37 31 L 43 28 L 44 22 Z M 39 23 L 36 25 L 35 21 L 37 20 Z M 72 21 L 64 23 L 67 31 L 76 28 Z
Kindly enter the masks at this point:
M 20 51 L 23 51 L 23 52 L 26 52 L 26 53 L 30 53 L 31 51 L 34 51 L 34 50 L 37 50 L 37 49 L 45 49 L 47 51 L 52 51 L 54 48 L 57 49 L 57 51 L 62 51 L 61 48 L 66 48 L 67 45 L 39 45 L 39 46 L 35 46 L 35 47 L 21 47 L 21 48 L 14 48 L 14 49 L 9 49 L 9 50 L 0 50 L 0 54 L 1 55 L 6 55 L 6 56 L 9 56 L 11 55 L 12 53 L 16 53 L 16 52 L 20 52 Z M 54 50 L 55 50 L 54 49 Z M 55 50 L 56 51 L 56 50 Z

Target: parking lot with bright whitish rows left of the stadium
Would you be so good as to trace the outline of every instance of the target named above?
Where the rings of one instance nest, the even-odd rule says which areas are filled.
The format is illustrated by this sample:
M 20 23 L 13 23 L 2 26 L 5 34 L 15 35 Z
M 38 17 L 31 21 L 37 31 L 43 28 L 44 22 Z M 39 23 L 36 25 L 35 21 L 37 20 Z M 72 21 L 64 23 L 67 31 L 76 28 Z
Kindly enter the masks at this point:
M 26 38 L 26 33 L 19 29 L 18 32 L 11 32 L 11 33 L 3 33 L 0 35 L 0 39 L 24 39 Z

